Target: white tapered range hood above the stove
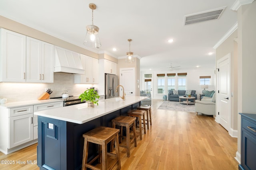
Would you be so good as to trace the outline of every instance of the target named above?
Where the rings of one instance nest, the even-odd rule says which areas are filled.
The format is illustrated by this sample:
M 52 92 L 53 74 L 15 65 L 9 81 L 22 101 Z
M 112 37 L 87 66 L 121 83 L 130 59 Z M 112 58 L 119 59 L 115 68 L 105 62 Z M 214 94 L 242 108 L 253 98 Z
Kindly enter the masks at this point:
M 84 74 L 80 54 L 54 46 L 54 72 Z

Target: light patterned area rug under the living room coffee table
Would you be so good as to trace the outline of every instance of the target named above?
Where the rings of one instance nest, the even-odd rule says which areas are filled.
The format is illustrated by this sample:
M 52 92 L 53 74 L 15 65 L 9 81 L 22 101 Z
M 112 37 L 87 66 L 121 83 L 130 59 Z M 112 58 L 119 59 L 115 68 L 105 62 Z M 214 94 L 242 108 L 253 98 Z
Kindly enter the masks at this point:
M 180 102 L 174 101 L 164 101 L 161 106 L 158 107 L 160 110 L 175 110 L 175 111 L 186 111 L 186 112 L 196 112 L 195 105 L 181 104 Z

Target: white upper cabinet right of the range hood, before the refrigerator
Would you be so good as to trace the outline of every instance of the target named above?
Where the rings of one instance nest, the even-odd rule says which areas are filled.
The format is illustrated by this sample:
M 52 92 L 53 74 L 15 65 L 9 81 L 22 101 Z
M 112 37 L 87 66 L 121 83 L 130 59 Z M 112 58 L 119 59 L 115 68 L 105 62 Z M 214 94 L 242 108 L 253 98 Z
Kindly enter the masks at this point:
M 98 59 L 80 54 L 84 74 L 74 76 L 75 83 L 97 84 L 99 82 Z

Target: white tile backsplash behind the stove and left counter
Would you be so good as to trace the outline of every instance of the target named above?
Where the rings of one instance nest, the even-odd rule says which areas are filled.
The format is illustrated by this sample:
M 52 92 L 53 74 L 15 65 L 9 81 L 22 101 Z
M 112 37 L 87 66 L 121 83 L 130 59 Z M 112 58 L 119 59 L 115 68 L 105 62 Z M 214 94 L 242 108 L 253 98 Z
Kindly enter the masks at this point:
M 51 98 L 62 96 L 64 90 L 68 90 L 69 96 L 79 96 L 87 88 L 98 88 L 98 84 L 74 84 L 74 74 L 54 73 L 54 83 L 8 83 L 0 82 L 0 98 L 7 98 L 8 102 L 24 100 L 38 100 L 45 88 L 53 92 Z M 104 84 L 102 84 L 104 86 Z M 104 92 L 98 92 L 104 94 Z

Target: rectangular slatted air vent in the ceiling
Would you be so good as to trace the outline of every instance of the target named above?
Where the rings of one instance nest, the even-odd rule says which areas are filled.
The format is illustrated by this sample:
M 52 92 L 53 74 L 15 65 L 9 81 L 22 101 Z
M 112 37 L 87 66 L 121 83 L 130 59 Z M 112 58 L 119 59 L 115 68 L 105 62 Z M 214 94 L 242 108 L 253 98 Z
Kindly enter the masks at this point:
M 224 11 L 226 7 L 214 9 L 214 10 L 209 10 L 209 11 L 204 11 L 204 12 L 199 12 L 196 14 L 191 14 L 185 16 L 185 25 L 189 25 L 192 23 L 198 23 L 198 22 L 204 22 L 204 21 L 209 21 L 209 20 L 216 20 L 220 18 L 220 15 Z

